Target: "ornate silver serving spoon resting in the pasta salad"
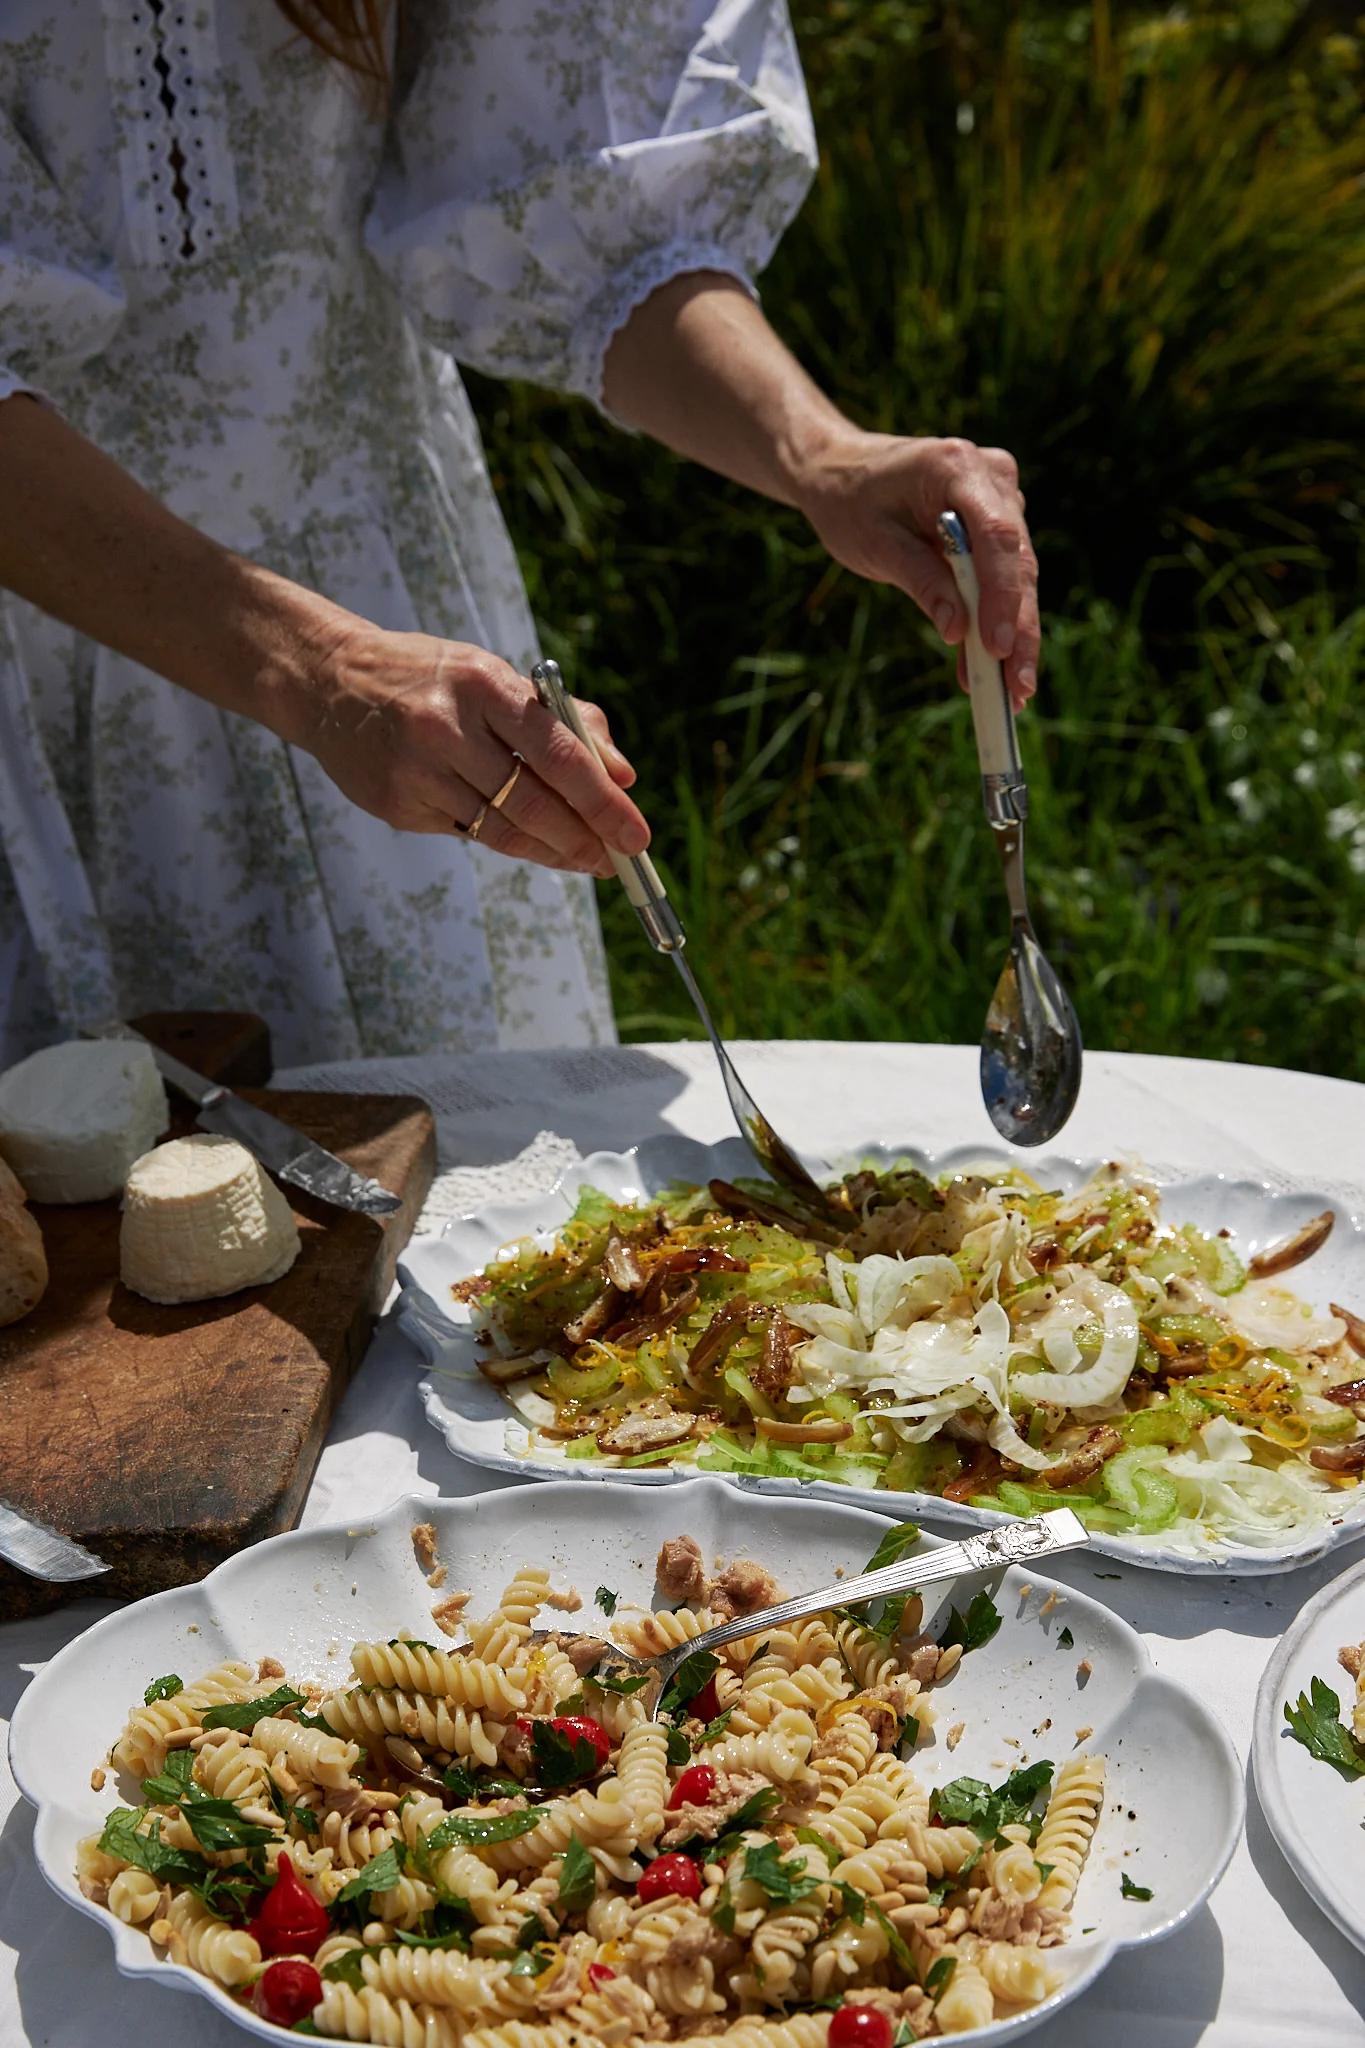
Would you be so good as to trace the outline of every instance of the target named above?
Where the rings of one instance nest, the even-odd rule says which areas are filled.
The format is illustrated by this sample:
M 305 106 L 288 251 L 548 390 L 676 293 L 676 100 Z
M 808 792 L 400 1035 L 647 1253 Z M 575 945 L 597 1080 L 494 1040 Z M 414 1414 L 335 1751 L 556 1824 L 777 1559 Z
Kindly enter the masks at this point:
M 786 1628 L 788 1622 L 800 1622 L 806 1614 L 831 1614 L 835 1608 L 855 1608 L 868 1599 L 888 1599 L 892 1593 L 913 1593 L 921 1585 L 937 1585 L 941 1579 L 962 1579 L 968 1571 L 1001 1571 L 1007 1565 L 1021 1565 L 1025 1559 L 1033 1563 L 1040 1556 L 1054 1556 L 1058 1550 L 1076 1550 L 1087 1544 L 1091 1534 L 1072 1507 L 1052 1507 L 1046 1516 L 1031 1516 L 1027 1522 L 1007 1522 L 1001 1528 L 980 1530 L 972 1536 L 964 1536 L 962 1542 L 941 1544 L 937 1550 L 925 1550 L 923 1556 L 900 1559 L 898 1565 L 882 1565 L 880 1571 L 864 1571 L 857 1579 L 841 1579 L 837 1585 L 823 1585 L 814 1593 L 796 1593 L 792 1599 L 780 1599 L 772 1608 L 757 1608 L 753 1614 L 737 1614 L 733 1622 L 718 1622 L 716 1628 L 704 1628 L 700 1636 L 688 1636 L 671 1651 L 661 1651 L 659 1657 L 632 1657 L 630 1651 L 622 1651 L 616 1642 L 604 1642 L 600 1636 L 579 1636 L 581 1642 L 591 1642 L 602 1651 L 598 1659 L 598 1669 L 610 1665 L 628 1677 L 639 1677 L 643 1683 L 632 1688 L 632 1692 L 645 1692 L 653 1683 L 653 1694 L 649 1696 L 649 1720 L 659 1718 L 659 1706 L 663 1696 L 677 1675 L 679 1665 L 690 1657 L 704 1655 L 706 1651 L 720 1649 L 722 1642 L 735 1642 L 739 1636 L 761 1636 L 769 1628 Z M 563 1645 L 565 1630 L 534 1628 L 530 1642 L 553 1642 Z M 454 1651 L 458 1657 L 460 1651 Z M 473 1655 L 469 1647 L 463 1655 Z M 389 1743 L 391 1755 L 401 1765 L 405 1778 L 413 1778 L 417 1784 L 428 1784 L 434 1790 L 444 1790 L 444 1782 L 426 1767 L 415 1767 L 403 1755 L 411 1749 L 409 1743 L 401 1743 L 399 1749 Z M 417 1755 L 417 1751 L 411 1751 Z M 526 1784 L 524 1792 L 538 1792 L 540 1786 Z

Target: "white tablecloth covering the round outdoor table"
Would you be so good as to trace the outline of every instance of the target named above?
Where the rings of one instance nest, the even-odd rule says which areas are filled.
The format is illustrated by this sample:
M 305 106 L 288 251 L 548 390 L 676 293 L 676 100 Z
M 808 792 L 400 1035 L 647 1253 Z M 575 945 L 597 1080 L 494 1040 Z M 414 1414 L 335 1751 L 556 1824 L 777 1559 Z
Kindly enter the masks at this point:
M 935 1149 L 993 1137 L 976 1055 L 966 1049 L 786 1042 L 735 1051 L 767 1116 L 810 1153 L 872 1139 Z M 432 1221 L 485 1196 L 548 1186 L 575 1147 L 622 1149 L 661 1128 L 716 1139 L 731 1128 L 710 1053 L 692 1044 L 362 1061 L 280 1079 L 426 1096 L 446 1169 Z M 1099 1053 L 1087 1059 L 1081 1106 L 1058 1149 L 1300 1182 L 1359 1210 L 1365 1090 L 1302 1073 Z M 426 1425 L 417 1376 L 403 1339 L 381 1325 L 334 1421 L 305 1522 L 356 1520 L 399 1493 L 458 1495 L 487 1483 Z M 1142 1628 L 1158 1667 L 1209 1702 L 1246 1757 L 1257 1681 L 1275 1638 L 1347 1561 L 1338 1554 L 1226 1585 L 1126 1569 L 1119 1583 L 1095 1585 L 1093 1565 L 1060 1559 L 1056 1577 L 1097 1591 Z M 88 1599 L 0 1628 L 0 1718 L 29 1673 L 106 1608 Z M 72 1772 L 88 1772 L 90 1761 L 72 1757 Z M 1248 1808 L 1246 1839 L 1212 1903 L 1166 1944 L 1119 1956 L 1040 2042 L 1334 2048 L 1365 2040 L 1365 1958 L 1300 1890 L 1250 1786 Z M 29 1808 L 0 1763 L 0 2048 L 143 2048 L 149 2040 L 235 2048 L 244 2036 L 207 2007 L 117 1978 L 104 1933 L 39 1878 L 31 1837 Z

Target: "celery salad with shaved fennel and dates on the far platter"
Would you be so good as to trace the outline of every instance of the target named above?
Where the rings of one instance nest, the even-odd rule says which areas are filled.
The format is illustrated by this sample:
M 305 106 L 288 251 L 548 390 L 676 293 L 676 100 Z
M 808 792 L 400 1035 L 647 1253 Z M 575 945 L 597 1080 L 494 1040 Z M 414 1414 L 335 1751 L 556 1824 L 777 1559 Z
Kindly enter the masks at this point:
M 1187 1556 L 1312 1538 L 1359 1487 L 1365 1321 L 1279 1280 L 1330 1212 L 1246 1266 L 1121 1165 L 835 1196 L 831 1225 L 763 1182 L 583 1190 L 456 1288 L 532 1454 L 1068 1505 Z

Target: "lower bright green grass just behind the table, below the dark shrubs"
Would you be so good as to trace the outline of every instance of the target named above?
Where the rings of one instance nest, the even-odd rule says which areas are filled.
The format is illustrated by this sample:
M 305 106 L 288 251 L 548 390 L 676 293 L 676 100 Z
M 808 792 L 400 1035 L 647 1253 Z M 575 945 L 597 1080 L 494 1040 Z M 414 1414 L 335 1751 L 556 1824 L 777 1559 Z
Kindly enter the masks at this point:
M 1365 610 L 1289 625 L 1250 657 L 1209 643 L 1238 662 L 1212 711 L 1207 674 L 1160 676 L 1103 606 L 1054 629 L 1021 723 L 1029 872 L 1091 1044 L 1365 1079 Z M 731 766 L 643 799 L 722 1030 L 974 1040 L 1007 915 L 966 702 L 925 690 L 853 754 L 802 674 L 720 709 L 747 721 Z M 694 1034 L 618 893 L 602 909 L 622 1034 Z

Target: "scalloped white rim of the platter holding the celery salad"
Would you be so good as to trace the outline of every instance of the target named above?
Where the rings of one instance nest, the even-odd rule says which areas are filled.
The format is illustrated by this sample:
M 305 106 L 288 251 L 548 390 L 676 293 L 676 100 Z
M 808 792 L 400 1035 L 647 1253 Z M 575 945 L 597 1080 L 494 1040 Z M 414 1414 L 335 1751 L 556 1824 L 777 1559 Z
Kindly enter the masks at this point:
M 518 1214 L 530 1219 L 546 1202 L 555 1198 L 567 1200 L 567 1184 L 573 1182 L 575 1186 L 583 1186 L 591 1178 L 589 1176 L 591 1167 L 610 1171 L 634 1163 L 636 1169 L 643 1171 L 641 1161 L 647 1161 L 651 1153 L 671 1151 L 675 1147 L 688 1147 L 700 1153 L 714 1155 L 722 1147 L 737 1147 L 739 1151 L 743 1151 L 745 1143 L 735 1133 L 726 1133 L 724 1137 L 710 1141 L 692 1139 L 681 1130 L 651 1133 L 645 1139 L 636 1139 L 636 1143 L 628 1145 L 624 1151 L 612 1151 L 602 1147 L 598 1151 L 585 1153 L 581 1159 L 571 1161 L 569 1165 L 563 1165 L 555 1176 L 555 1180 L 551 1182 L 551 1186 L 544 1188 L 540 1194 L 518 1196 L 508 1202 L 499 1200 L 481 1202 L 473 1208 L 460 1210 L 458 1214 L 446 1217 L 438 1231 L 424 1231 L 420 1237 L 409 1239 L 409 1243 L 399 1253 L 397 1262 L 397 1278 L 401 1282 L 403 1292 L 395 1303 L 395 1321 L 399 1331 L 403 1333 L 403 1339 L 417 1352 L 417 1356 L 428 1366 L 428 1372 L 417 1384 L 417 1393 L 422 1397 L 422 1411 L 426 1419 L 444 1440 L 450 1454 L 458 1458 L 463 1464 L 473 1464 L 475 1468 L 487 1473 L 501 1473 L 510 1479 L 532 1479 L 536 1485 L 546 1485 L 561 1479 L 573 1485 L 581 1485 L 583 1481 L 602 1483 L 608 1479 L 616 1479 L 624 1481 L 626 1485 L 657 1487 L 657 1485 L 679 1485 L 686 1483 L 686 1479 L 690 1477 L 710 1477 L 710 1479 L 722 1479 L 724 1483 L 735 1485 L 743 1493 L 759 1493 L 765 1499 L 804 1497 L 804 1499 L 823 1499 L 845 1507 L 853 1507 L 860 1505 L 864 1499 L 872 1499 L 874 1495 L 868 1495 L 864 1489 L 841 1487 L 835 1481 L 763 1479 L 747 1473 L 702 1475 L 694 1470 L 673 1475 L 671 1468 L 641 1468 L 634 1473 L 626 1473 L 620 1466 L 604 1466 L 602 1470 L 593 1470 L 589 1464 L 583 1464 L 581 1470 L 565 1470 L 563 1462 L 553 1464 L 551 1460 L 538 1460 L 534 1456 L 518 1458 L 514 1452 L 505 1450 L 485 1452 L 469 1448 L 456 1440 L 454 1425 L 467 1421 L 467 1417 L 458 1415 L 446 1403 L 440 1386 L 436 1386 L 434 1378 L 430 1376 L 432 1360 L 424 1356 L 424 1346 L 420 1337 L 413 1333 L 413 1321 L 415 1323 L 424 1321 L 424 1311 L 417 1307 L 415 1298 L 420 1296 L 420 1300 L 428 1305 L 428 1309 L 442 1323 L 446 1323 L 448 1329 L 458 1331 L 458 1325 L 446 1317 L 442 1305 L 413 1276 L 407 1264 L 409 1253 L 413 1249 L 420 1251 L 424 1245 L 440 1245 L 460 1227 L 483 1225 L 493 1214 L 499 1219 L 499 1227 L 501 1219 L 503 1217 L 508 1219 L 510 1233 L 505 1241 L 512 1241 L 512 1237 L 516 1235 Z M 843 1161 L 870 1159 L 870 1157 L 911 1159 L 927 1171 L 935 1169 L 941 1171 L 945 1165 L 954 1161 L 966 1165 L 974 1157 L 1019 1163 L 1015 1161 L 1013 1153 L 1007 1151 L 1005 1145 L 1001 1145 L 999 1141 L 997 1143 L 984 1141 L 980 1145 L 968 1141 L 964 1145 L 950 1145 L 950 1147 L 939 1147 L 937 1151 L 927 1151 L 921 1145 L 894 1145 L 884 1139 L 878 1139 L 876 1143 L 849 1147 L 847 1153 L 841 1153 L 839 1157 Z M 1048 1151 L 1038 1159 L 1029 1157 L 1025 1171 L 1038 1178 L 1038 1174 L 1046 1171 L 1048 1165 L 1064 1165 L 1074 1174 L 1089 1176 L 1103 1163 L 1105 1163 L 1103 1157 L 1083 1159 L 1076 1157 L 1074 1153 Z M 1150 1174 L 1152 1182 L 1156 1184 L 1158 1190 L 1162 1190 L 1162 1194 L 1173 1188 L 1216 1184 L 1226 1188 L 1228 1192 L 1244 1190 L 1269 1202 L 1302 1200 L 1302 1202 L 1318 1202 L 1322 1206 L 1330 1206 L 1338 1212 L 1338 1223 L 1345 1221 L 1351 1233 L 1361 1239 L 1361 1249 L 1365 1251 L 1365 1192 L 1361 1190 L 1351 1190 L 1351 1200 L 1353 1204 L 1359 1202 L 1359 1206 L 1347 1208 L 1342 1217 L 1340 1194 L 1332 1196 L 1322 1188 L 1308 1188 L 1308 1186 L 1275 1188 L 1271 1182 L 1257 1180 L 1250 1174 L 1222 1174 L 1222 1171 L 1183 1174 L 1177 1169 L 1146 1167 L 1142 1161 L 1134 1161 L 1134 1165 L 1138 1167 L 1138 1171 Z M 546 1223 L 526 1221 L 526 1233 L 536 1229 L 546 1229 Z M 964 1509 L 962 1518 L 958 1518 L 956 1513 L 945 1513 L 945 1505 L 954 1507 L 956 1503 L 943 1503 L 941 1497 L 933 1493 L 894 1493 L 894 1495 L 888 1493 L 882 1495 L 882 1499 L 890 1503 L 888 1511 L 898 1511 L 902 1516 L 925 1518 L 925 1520 L 937 1518 L 950 1528 L 1001 1528 L 1009 1524 L 1009 1520 L 1013 1520 L 1009 1516 L 990 1513 L 988 1509 Z M 878 1509 L 872 1511 L 876 1513 Z M 1365 1499 L 1359 1503 L 1359 1513 L 1355 1520 L 1342 1518 L 1338 1524 L 1328 1524 L 1328 1528 L 1320 1536 L 1304 1538 L 1300 1544 L 1291 1546 L 1277 1544 L 1277 1546 L 1267 1546 L 1263 1550 L 1226 1548 L 1224 1554 L 1185 1556 L 1179 1550 L 1144 1546 L 1126 1536 L 1099 1534 L 1093 1538 L 1093 1548 L 1097 1554 L 1111 1556 L 1124 1565 L 1136 1565 L 1138 1569 L 1144 1571 L 1173 1571 L 1201 1579 L 1230 1579 L 1230 1577 L 1263 1579 L 1263 1577 L 1273 1577 L 1275 1573 L 1300 1571 L 1306 1565 L 1316 1565 L 1332 1550 L 1342 1550 L 1355 1542 L 1365 1542 Z

